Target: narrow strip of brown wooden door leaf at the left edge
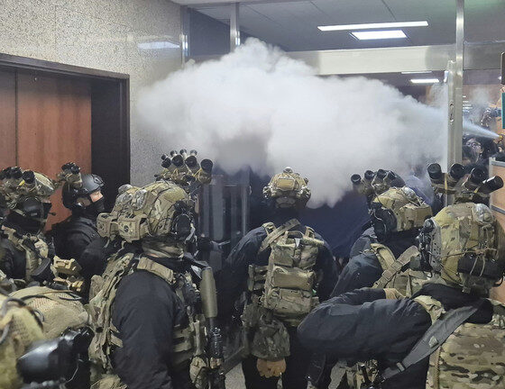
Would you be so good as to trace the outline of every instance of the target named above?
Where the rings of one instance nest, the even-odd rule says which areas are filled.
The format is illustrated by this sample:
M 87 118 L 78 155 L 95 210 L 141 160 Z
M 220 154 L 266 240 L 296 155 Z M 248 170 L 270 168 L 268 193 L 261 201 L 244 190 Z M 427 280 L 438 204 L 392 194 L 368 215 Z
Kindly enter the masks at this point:
M 16 164 L 15 71 L 0 70 L 0 169 Z

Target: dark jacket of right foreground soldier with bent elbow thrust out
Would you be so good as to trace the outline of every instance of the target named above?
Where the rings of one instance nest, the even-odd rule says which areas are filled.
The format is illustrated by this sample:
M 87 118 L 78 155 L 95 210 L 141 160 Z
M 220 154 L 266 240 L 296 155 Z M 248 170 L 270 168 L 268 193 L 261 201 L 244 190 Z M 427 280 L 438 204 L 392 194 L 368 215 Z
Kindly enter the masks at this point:
M 445 310 L 478 299 L 445 285 L 427 284 L 418 295 L 430 295 Z M 492 306 L 486 302 L 468 320 L 491 321 Z M 321 303 L 298 327 L 298 337 L 311 351 L 350 362 L 378 361 L 380 369 L 405 357 L 431 326 L 429 314 L 412 299 L 386 300 L 382 289 L 363 288 Z M 382 389 L 424 389 L 428 358 L 382 384 Z

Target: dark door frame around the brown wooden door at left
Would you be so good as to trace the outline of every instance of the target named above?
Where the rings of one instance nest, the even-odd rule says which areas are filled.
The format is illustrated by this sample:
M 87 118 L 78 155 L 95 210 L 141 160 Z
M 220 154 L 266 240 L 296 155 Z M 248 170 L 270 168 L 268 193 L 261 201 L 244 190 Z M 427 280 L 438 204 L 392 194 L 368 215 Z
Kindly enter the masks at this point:
M 0 53 L 0 70 L 2 68 L 90 81 L 91 171 L 104 178 L 106 203 L 108 206 L 114 204 L 117 188 L 130 183 L 130 75 Z M 102 142 L 97 141 L 97 134 L 115 140 L 112 152 L 100 147 Z

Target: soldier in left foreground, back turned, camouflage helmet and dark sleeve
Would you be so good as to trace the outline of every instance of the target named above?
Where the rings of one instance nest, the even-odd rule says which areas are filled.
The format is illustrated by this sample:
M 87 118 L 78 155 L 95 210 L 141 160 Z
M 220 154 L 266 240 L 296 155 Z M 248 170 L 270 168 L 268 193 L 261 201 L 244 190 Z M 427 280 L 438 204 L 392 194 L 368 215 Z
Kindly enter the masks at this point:
M 120 188 L 113 211 L 99 215 L 102 236 L 142 249 L 124 246 L 108 259 L 103 276 L 93 277 L 96 337 L 90 351 L 104 371 L 94 388 L 207 387 L 206 371 L 216 358 L 205 353 L 201 305 L 208 297 L 204 290 L 212 288 L 202 287 L 200 294 L 192 269 L 198 263 L 185 257 L 195 232 L 193 206 L 183 188 L 161 179 Z

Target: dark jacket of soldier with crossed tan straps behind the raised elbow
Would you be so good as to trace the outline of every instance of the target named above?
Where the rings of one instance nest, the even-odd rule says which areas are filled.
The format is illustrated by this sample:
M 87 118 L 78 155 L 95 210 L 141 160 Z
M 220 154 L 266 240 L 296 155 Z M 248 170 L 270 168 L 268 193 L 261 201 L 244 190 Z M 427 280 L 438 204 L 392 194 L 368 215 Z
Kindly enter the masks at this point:
M 398 258 L 401 253 L 414 244 L 414 237 L 414 232 L 396 233 L 393 239 L 383 244 L 392 251 L 396 258 Z M 364 231 L 363 235 L 356 240 L 353 249 L 351 249 L 354 256 L 349 259 L 349 262 L 345 265 L 344 270 L 342 270 L 342 273 L 338 277 L 338 282 L 331 294 L 332 297 L 353 291 L 354 289 L 371 287 L 375 281 L 381 278 L 383 272 L 381 263 L 370 248 L 371 243 L 377 242 L 377 239 L 372 235 L 370 229 Z

